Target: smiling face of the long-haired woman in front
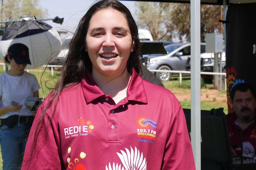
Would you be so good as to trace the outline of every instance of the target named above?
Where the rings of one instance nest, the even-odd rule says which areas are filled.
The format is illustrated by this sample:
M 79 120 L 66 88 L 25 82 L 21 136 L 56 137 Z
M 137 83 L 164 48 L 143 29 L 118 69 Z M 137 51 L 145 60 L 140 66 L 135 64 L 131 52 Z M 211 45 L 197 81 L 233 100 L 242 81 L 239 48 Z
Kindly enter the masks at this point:
M 86 51 L 92 62 L 92 74 L 118 76 L 126 69 L 134 41 L 126 17 L 107 8 L 96 12 L 89 22 Z

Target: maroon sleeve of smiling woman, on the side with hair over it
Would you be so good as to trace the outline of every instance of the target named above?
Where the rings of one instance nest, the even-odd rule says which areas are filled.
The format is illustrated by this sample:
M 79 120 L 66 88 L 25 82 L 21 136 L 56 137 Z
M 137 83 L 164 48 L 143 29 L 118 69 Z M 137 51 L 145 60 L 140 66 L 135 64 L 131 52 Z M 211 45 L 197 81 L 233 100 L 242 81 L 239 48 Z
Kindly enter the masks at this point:
M 39 106 L 34 123 L 30 130 L 21 167 L 22 170 L 61 170 L 63 168 L 63 164 L 61 163 L 62 161 L 59 156 L 60 140 L 58 126 L 54 119 L 49 122 L 49 112 L 51 109 L 48 109 L 49 112 L 47 111 L 44 116 L 43 125 L 40 125 L 40 131 L 37 133 L 37 142 L 35 143 L 35 147 L 32 145 L 34 143 L 35 127 L 41 117 L 43 104 Z

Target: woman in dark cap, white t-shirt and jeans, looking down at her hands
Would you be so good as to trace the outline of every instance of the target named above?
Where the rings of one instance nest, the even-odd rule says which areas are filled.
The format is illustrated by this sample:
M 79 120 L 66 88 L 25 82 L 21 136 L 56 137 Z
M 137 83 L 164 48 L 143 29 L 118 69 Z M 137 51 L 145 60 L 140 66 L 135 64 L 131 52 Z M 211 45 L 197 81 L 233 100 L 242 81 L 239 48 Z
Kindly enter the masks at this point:
M 34 120 L 32 111 L 25 105 L 28 96 L 38 97 L 37 78 L 25 72 L 29 48 L 21 43 L 12 44 L 5 57 L 11 69 L 0 75 L 0 144 L 3 170 L 21 166 L 28 130 Z

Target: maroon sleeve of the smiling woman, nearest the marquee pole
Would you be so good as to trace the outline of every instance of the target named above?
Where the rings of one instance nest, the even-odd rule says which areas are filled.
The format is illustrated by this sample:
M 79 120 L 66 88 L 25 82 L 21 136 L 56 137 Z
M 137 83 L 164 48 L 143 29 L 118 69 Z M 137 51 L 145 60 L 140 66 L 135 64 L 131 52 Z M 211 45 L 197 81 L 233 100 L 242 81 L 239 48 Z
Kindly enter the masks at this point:
M 170 122 L 163 170 L 195 170 L 195 161 L 184 111 L 179 104 Z

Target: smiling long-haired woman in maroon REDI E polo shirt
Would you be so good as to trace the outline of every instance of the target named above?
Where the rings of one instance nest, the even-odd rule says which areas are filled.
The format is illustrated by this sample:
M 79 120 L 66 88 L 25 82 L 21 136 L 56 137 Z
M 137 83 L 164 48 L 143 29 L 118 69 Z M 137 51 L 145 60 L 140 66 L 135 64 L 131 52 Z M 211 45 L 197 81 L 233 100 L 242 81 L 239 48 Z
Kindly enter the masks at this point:
M 138 75 L 140 51 L 127 7 L 92 5 L 37 111 L 22 169 L 195 169 L 183 109 Z

